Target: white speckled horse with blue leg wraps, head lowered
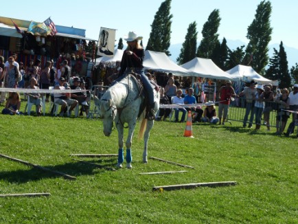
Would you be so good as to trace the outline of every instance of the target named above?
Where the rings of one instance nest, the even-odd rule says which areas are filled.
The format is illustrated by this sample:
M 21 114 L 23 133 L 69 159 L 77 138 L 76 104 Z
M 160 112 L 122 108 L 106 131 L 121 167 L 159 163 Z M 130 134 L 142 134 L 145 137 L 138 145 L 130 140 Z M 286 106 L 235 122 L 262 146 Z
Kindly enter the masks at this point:
M 154 111 L 159 110 L 159 93 L 154 90 Z M 133 133 L 137 124 L 139 109 L 144 102 L 144 96 L 140 93 L 137 80 L 131 74 L 120 82 L 115 83 L 106 90 L 106 93 L 100 100 L 100 117 L 103 118 L 104 135 L 110 136 L 112 133 L 113 122 L 118 131 L 118 163 L 117 166 L 122 168 L 124 162 L 124 124 L 128 124 L 128 137 L 126 139 L 126 167 L 132 168 L 131 161 L 131 144 L 133 140 Z M 150 129 L 154 124 L 154 120 L 144 119 L 146 109 L 141 113 L 143 118 L 140 126 L 139 137 L 144 135 L 144 152 L 143 162 L 147 163 L 148 153 L 148 139 Z M 146 129 L 146 131 L 145 131 Z M 145 133 L 144 133 L 145 131 Z

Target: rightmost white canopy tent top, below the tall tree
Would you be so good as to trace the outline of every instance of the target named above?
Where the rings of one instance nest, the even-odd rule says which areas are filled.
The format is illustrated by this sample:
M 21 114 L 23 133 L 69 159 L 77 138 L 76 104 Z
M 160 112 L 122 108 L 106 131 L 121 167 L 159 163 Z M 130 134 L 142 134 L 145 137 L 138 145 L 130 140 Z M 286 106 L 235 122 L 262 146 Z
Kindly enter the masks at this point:
M 242 80 L 243 82 L 250 82 L 251 80 L 254 80 L 255 82 L 262 85 L 271 83 L 274 86 L 278 86 L 277 80 L 269 80 L 267 78 L 264 78 L 260 74 L 257 74 L 257 71 L 255 71 L 251 66 L 236 65 L 226 72 L 228 74 L 231 74 L 232 76 L 237 77 L 238 80 Z

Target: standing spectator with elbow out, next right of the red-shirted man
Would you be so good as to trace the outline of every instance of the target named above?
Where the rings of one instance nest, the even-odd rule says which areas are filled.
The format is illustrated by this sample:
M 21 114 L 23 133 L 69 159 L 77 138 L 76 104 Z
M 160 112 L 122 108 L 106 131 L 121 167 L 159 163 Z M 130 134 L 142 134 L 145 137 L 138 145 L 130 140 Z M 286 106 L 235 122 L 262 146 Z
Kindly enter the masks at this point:
M 255 93 L 257 93 L 257 90 L 255 89 L 255 85 L 257 85 L 257 82 L 251 80 L 249 83 L 249 87 L 245 87 L 244 90 L 239 93 L 239 96 L 245 96 L 246 100 L 246 110 L 245 115 L 243 119 L 243 127 L 247 127 L 247 120 L 249 119 L 249 128 L 253 126 L 253 116 L 254 116 L 254 100 L 255 100 Z M 251 117 L 249 118 L 249 113 L 251 113 Z

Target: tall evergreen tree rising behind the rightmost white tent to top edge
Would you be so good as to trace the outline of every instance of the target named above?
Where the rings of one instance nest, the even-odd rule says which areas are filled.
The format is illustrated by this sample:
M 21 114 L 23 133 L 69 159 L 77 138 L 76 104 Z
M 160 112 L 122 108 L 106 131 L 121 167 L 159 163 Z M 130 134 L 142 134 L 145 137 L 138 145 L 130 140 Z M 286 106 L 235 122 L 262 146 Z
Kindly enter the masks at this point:
M 268 43 L 271 41 L 273 30 L 270 23 L 271 11 L 271 2 L 261 1 L 260 5 L 257 5 L 255 19 L 247 28 L 249 44 L 247 45 L 246 58 L 249 61 L 253 55 L 251 67 L 259 74 L 264 74 L 264 68 L 268 64 Z

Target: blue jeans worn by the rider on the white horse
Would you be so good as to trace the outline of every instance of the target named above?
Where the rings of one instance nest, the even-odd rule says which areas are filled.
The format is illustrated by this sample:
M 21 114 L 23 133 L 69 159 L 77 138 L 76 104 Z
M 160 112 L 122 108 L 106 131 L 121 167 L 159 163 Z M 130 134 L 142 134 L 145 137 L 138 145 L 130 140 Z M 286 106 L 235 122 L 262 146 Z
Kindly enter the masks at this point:
M 134 68 L 134 70 L 135 70 L 135 73 L 137 73 L 141 76 L 141 81 L 143 82 L 145 91 L 148 95 L 149 104 L 152 105 L 154 103 L 154 93 L 153 93 L 153 89 L 150 84 L 150 81 L 148 80 L 148 77 L 144 73 L 144 69 L 136 67 L 136 68 Z M 111 84 L 111 86 L 115 85 L 116 82 L 119 82 L 120 80 L 122 80 L 122 78 L 127 76 L 127 74 L 130 72 L 131 72 L 130 69 L 126 69 L 124 74 L 122 76 L 119 76 L 117 79 L 115 79 L 115 81 Z

